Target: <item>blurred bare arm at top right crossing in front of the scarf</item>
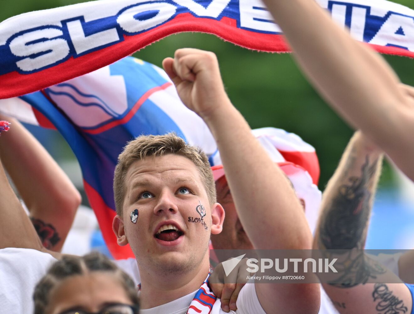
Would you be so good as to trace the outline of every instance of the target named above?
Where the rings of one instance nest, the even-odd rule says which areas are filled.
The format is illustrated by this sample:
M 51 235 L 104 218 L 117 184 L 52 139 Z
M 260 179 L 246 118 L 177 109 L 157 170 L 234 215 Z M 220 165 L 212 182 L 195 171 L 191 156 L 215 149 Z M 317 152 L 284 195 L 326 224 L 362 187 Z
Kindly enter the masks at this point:
M 414 180 L 413 93 L 400 86 L 380 55 L 354 41 L 315 1 L 264 2 L 326 101 Z

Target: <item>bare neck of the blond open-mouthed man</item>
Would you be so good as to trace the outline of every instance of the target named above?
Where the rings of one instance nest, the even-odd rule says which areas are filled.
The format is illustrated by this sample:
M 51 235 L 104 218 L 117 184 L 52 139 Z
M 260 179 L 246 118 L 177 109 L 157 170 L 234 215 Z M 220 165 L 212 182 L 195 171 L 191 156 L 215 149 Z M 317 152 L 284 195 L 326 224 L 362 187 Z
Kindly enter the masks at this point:
M 206 254 L 200 265 L 186 273 L 171 273 L 168 275 L 162 271 L 140 269 L 140 307 L 151 309 L 198 290 L 207 277 L 209 268 L 209 256 Z

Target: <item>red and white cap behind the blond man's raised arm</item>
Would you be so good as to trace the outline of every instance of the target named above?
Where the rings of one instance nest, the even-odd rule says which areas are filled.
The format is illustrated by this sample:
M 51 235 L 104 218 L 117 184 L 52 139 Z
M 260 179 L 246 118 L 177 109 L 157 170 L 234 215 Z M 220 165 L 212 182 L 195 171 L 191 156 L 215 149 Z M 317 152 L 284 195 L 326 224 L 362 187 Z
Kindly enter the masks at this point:
M 313 231 L 318 221 L 322 198 L 322 193 L 316 186 L 320 169 L 315 149 L 296 134 L 282 129 L 265 127 L 252 132 L 270 158 L 292 182 L 297 197 L 305 202 L 305 216 L 310 230 Z M 219 151 L 210 156 L 209 161 L 212 164 L 214 181 L 217 181 L 225 175 Z

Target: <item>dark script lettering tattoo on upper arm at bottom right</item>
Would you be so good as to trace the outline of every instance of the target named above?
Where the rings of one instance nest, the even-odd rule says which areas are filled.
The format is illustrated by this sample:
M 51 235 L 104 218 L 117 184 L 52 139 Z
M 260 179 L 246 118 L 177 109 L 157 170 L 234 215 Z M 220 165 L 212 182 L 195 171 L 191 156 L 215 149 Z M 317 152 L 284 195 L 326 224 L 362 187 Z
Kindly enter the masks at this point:
M 408 311 L 404 302 L 393 295 L 385 283 L 375 283 L 372 297 L 374 302 L 379 300 L 375 307 L 379 314 L 400 314 Z

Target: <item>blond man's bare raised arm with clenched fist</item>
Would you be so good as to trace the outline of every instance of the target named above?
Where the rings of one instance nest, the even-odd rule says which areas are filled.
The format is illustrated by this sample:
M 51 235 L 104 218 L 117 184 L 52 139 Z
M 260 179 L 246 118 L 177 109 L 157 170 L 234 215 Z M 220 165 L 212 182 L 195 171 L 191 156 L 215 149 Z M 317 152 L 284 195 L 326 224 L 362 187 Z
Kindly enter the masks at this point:
M 216 56 L 180 49 L 163 65 L 181 100 L 203 118 L 217 141 L 238 216 L 254 247 L 309 249 L 311 235 L 303 209 L 289 181 L 227 97 Z M 255 288 L 267 313 L 318 312 L 318 285 Z

